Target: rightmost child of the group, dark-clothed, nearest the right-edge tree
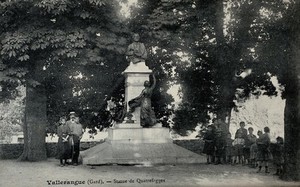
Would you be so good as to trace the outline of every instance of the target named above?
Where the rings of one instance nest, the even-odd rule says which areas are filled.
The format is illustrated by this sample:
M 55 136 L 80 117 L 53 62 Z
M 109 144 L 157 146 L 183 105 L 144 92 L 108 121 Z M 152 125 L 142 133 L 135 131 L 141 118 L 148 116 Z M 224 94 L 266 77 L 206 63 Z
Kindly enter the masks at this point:
M 280 175 L 282 174 L 283 171 L 283 138 L 278 136 L 276 138 L 276 145 L 275 145 L 275 150 L 274 150 L 274 164 L 276 165 L 276 173 L 274 175 Z

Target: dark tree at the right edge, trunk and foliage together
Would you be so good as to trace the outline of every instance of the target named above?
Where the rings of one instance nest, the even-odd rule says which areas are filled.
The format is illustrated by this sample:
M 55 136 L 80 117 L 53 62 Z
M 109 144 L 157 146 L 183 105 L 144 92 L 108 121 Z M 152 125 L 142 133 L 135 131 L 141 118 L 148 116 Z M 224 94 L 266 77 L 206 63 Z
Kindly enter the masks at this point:
M 284 7 L 284 8 L 282 8 Z M 258 48 L 264 60 L 264 69 L 276 75 L 284 87 L 282 97 L 286 99 L 284 110 L 284 172 L 285 180 L 300 180 L 300 62 L 299 62 L 299 18 L 300 3 L 283 1 L 269 3 L 269 13 L 279 19 L 266 25 L 269 40 Z

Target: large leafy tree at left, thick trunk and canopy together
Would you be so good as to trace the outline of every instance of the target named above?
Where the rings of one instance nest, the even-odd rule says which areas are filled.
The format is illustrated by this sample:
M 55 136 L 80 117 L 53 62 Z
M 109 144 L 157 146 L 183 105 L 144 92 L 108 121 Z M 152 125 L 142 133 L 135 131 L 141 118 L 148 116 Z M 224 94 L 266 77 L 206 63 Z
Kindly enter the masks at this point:
M 117 1 L 106 0 L 1 2 L 2 82 L 22 78 L 27 89 L 22 160 L 46 158 L 47 97 L 53 96 L 47 93 L 49 88 L 59 90 L 55 88 L 58 84 L 53 85 L 57 83 L 53 78 L 59 79 L 68 69 L 73 69 L 73 76 L 77 76 L 90 65 L 98 67 L 99 72 L 104 67 L 121 72 L 124 62 L 109 58 L 123 53 L 127 45 L 127 30 L 118 21 L 118 9 Z M 99 78 L 99 74 L 95 73 L 95 77 Z M 66 85 L 66 77 L 60 77 Z M 105 89 L 111 87 L 112 82 L 105 80 L 110 74 L 106 72 L 102 77 L 106 84 L 102 84 L 103 92 L 95 97 L 104 97 Z M 82 88 L 80 84 L 67 86 L 75 91 L 69 89 L 66 94 Z

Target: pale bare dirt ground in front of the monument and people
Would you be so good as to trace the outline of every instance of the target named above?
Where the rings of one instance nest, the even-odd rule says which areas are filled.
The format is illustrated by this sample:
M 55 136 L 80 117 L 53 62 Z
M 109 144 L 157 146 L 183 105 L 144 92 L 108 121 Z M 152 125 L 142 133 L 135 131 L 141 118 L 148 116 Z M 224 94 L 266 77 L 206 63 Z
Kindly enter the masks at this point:
M 231 165 L 86 165 L 59 167 L 58 160 L 0 160 L 0 186 L 300 186 L 247 166 Z

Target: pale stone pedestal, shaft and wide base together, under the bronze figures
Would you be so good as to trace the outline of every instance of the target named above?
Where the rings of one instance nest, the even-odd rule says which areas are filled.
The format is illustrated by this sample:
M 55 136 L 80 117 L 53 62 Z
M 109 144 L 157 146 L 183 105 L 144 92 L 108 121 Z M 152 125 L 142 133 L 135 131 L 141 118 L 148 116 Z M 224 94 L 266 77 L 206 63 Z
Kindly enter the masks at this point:
M 144 82 L 149 80 L 152 71 L 144 62 L 130 64 L 125 75 L 125 101 L 140 95 Z M 127 106 L 127 110 L 129 107 Z M 134 113 L 136 121 L 116 124 L 108 129 L 106 141 L 81 152 L 83 164 L 175 164 L 201 163 L 204 156 L 173 144 L 168 128 L 156 124 L 151 128 L 140 126 L 140 109 Z

